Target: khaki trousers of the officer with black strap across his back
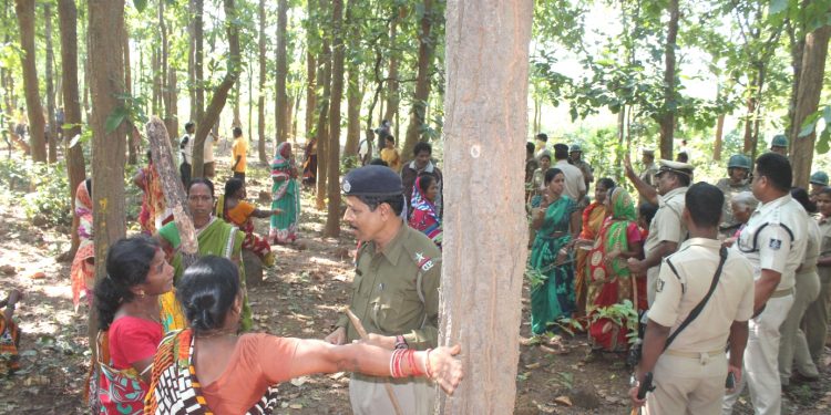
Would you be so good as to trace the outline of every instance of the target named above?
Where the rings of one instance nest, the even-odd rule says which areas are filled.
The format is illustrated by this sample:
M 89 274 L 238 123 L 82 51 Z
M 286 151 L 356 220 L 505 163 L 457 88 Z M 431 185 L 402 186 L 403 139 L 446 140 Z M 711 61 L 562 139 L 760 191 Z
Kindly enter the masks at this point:
M 646 398 L 647 415 L 707 415 L 721 409 L 727 380 L 724 352 L 698 359 L 664 353 L 653 373 L 655 391 Z

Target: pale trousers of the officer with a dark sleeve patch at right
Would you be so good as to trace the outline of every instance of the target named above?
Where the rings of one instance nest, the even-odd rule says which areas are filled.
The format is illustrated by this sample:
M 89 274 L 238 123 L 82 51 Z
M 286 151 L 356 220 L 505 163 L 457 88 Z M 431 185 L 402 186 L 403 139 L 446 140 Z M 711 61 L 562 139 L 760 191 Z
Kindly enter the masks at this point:
M 765 311 L 749 322 L 750 335 L 745 349 L 741 383 L 725 395 L 722 413 L 732 413 L 747 383 L 756 415 L 779 415 L 782 412 L 782 385 L 779 382 L 779 329 L 793 304 L 793 294 L 768 300 Z

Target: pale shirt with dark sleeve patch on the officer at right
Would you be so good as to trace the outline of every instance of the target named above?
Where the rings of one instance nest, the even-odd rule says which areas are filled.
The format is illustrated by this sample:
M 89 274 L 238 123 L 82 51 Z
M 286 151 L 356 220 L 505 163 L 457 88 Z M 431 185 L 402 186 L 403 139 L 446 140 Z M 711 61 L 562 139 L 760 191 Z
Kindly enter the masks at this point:
M 798 201 L 787 194 L 759 205 L 750 216 L 732 249 L 753 264 L 753 279 L 763 269 L 781 273 L 777 291 L 794 284 L 794 273 L 806 256 L 808 216 Z

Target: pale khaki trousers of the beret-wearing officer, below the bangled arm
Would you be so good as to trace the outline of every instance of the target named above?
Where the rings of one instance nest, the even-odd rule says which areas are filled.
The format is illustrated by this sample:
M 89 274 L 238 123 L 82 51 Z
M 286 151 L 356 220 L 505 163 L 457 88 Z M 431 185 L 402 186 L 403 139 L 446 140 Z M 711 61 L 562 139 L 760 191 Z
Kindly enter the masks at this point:
M 387 377 L 367 377 L 352 374 L 349 380 L 349 401 L 355 415 L 390 415 L 392 406 L 387 388 Z M 433 413 L 435 388 L 425 378 L 389 380 L 403 415 L 428 415 Z

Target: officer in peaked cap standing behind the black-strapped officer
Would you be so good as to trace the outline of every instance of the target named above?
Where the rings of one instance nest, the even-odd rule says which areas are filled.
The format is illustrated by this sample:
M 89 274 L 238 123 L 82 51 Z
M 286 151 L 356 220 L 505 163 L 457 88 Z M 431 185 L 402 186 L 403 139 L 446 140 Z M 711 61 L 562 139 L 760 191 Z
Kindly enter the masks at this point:
M 646 272 L 646 299 L 655 301 L 655 283 L 658 279 L 660 260 L 675 252 L 686 239 L 687 229 L 681 221 L 684 194 L 693 180 L 693 167 L 686 163 L 660 160 L 655 176 L 658 185 L 658 211 L 649 225 L 649 235 L 644 242 L 644 259 L 629 258 L 629 271 Z

